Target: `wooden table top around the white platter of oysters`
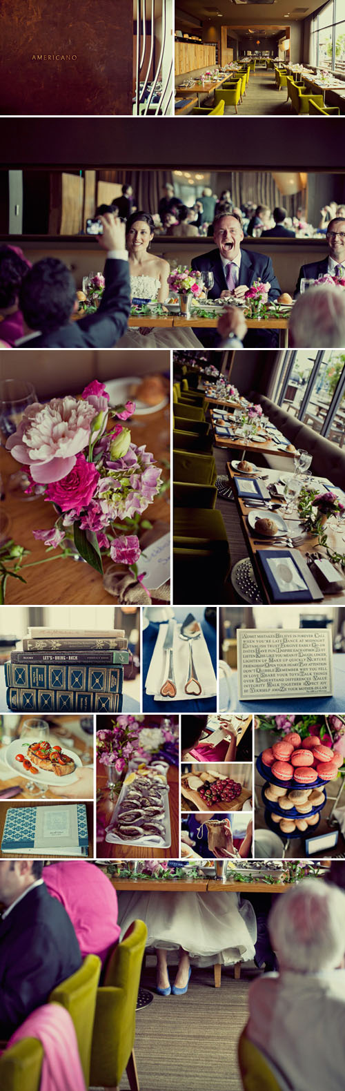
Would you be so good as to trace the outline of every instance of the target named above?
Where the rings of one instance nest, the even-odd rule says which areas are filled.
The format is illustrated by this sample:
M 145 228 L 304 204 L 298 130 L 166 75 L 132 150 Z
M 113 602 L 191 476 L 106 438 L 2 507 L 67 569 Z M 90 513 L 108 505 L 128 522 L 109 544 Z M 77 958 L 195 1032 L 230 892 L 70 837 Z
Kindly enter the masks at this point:
M 97 790 L 100 789 L 102 798 L 97 802 L 97 814 L 106 815 L 108 822 L 112 815 L 118 796 L 115 795 L 112 803 L 109 796 L 107 783 L 107 771 L 104 765 L 97 763 Z M 104 860 L 178 860 L 179 856 L 179 774 L 175 765 L 168 769 L 169 784 L 169 807 L 171 825 L 171 844 L 167 849 L 150 849 L 143 844 L 111 844 L 106 840 L 98 841 L 97 856 Z

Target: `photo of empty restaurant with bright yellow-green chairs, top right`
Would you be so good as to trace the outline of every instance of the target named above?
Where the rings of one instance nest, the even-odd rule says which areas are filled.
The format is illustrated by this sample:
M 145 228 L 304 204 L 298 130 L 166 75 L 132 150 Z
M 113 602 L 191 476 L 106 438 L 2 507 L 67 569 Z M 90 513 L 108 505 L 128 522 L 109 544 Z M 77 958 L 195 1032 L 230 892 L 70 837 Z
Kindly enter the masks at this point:
M 175 115 L 342 115 L 344 32 L 342 0 L 179 0 Z

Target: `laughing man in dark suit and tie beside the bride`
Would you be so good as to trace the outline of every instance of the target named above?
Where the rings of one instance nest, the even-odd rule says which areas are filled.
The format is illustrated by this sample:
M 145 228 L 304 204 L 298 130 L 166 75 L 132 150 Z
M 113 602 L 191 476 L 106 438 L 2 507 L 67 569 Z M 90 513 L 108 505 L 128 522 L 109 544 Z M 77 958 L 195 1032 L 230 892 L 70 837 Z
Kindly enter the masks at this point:
M 243 299 L 246 291 L 251 288 L 254 280 L 267 281 L 271 285 L 269 299 L 274 302 L 281 295 L 281 287 L 274 274 L 271 257 L 266 254 L 253 253 L 250 250 L 241 250 L 243 231 L 240 217 L 237 213 L 230 215 L 219 215 L 215 217 L 213 225 L 213 238 L 216 250 L 211 250 L 207 254 L 193 257 L 191 267 L 201 273 L 211 271 L 214 276 L 214 285 L 209 292 L 211 299 Z M 212 334 L 212 340 L 210 340 Z M 201 331 L 198 336 L 202 339 Z M 214 331 L 205 331 L 206 341 L 211 345 L 216 340 Z M 274 348 L 277 344 L 275 331 L 250 329 L 245 338 L 245 346 Z

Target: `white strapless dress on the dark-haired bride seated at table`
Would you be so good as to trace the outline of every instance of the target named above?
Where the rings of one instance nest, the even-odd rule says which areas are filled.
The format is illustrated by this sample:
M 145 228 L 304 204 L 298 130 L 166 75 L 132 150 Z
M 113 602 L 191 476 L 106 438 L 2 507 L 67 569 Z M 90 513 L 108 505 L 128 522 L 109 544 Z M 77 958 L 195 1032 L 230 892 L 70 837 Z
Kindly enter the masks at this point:
M 157 299 L 160 280 L 153 276 L 131 276 L 132 299 L 151 302 Z M 140 319 L 138 320 L 140 322 Z M 192 329 L 151 329 L 143 335 L 139 328 L 130 328 L 117 343 L 117 348 L 202 348 Z

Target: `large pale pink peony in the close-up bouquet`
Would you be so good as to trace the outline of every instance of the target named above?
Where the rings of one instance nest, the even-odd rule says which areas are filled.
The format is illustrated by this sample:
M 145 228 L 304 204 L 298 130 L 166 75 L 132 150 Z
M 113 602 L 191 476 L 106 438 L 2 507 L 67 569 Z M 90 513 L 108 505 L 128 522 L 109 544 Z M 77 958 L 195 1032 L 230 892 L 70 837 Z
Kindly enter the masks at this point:
M 16 432 L 7 442 L 13 458 L 29 467 L 34 481 L 48 484 L 64 478 L 88 444 L 95 409 L 76 398 L 52 398 L 25 409 Z

